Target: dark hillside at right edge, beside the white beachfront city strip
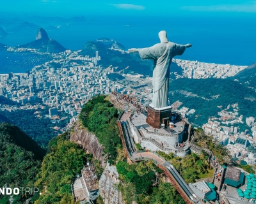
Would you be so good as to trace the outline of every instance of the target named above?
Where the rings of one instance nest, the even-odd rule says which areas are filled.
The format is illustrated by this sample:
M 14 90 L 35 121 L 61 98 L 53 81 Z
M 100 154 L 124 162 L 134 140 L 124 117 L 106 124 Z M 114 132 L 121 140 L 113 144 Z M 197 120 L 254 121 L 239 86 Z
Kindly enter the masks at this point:
M 256 62 L 248 66 L 248 68 L 244 69 L 237 73 L 234 77 L 230 77 L 230 80 L 238 80 L 246 87 L 253 87 L 256 89 Z

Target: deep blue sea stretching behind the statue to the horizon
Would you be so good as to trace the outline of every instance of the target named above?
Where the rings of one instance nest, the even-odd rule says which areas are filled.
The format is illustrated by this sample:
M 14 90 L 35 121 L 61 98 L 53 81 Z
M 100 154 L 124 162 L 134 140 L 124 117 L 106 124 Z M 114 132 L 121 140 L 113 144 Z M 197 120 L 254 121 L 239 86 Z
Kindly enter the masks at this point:
M 52 25 L 59 28 L 46 30 L 50 38 L 71 50 L 81 50 L 86 41 L 104 37 L 119 41 L 127 49 L 150 47 L 159 43 L 159 31 L 166 30 L 169 41 L 193 45 L 182 56 L 177 56 L 178 59 L 234 65 L 250 65 L 256 61 L 256 20 L 253 18 L 95 18 L 97 21 L 86 23 L 52 22 Z M 40 26 L 47 25 L 41 23 Z M 6 38 L 0 38 L 0 42 L 9 46 L 22 45 L 35 40 L 35 34 L 36 31 L 26 34 L 9 33 Z

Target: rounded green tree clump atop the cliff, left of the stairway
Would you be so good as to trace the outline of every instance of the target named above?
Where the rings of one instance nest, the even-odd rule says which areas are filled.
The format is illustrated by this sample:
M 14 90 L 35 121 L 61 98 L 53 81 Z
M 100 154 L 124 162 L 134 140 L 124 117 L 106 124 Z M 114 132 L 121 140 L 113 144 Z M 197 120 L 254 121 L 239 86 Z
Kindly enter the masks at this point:
M 79 119 L 84 128 L 95 133 L 100 144 L 104 145 L 105 157 L 109 164 L 114 164 L 121 148 L 121 139 L 116 124 L 118 110 L 107 100 L 106 96 L 94 96 L 84 105 Z

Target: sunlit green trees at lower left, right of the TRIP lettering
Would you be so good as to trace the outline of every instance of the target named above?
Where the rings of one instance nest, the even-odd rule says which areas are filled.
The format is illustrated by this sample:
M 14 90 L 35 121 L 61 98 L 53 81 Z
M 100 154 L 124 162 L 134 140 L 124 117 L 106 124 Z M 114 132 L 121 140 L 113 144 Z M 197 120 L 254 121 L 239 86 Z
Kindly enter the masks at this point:
M 36 176 L 35 186 L 41 189 L 35 204 L 73 204 L 71 184 L 86 163 L 85 152 L 79 145 L 67 140 L 67 133 L 49 142 L 48 154 Z M 45 191 L 45 186 L 47 187 Z

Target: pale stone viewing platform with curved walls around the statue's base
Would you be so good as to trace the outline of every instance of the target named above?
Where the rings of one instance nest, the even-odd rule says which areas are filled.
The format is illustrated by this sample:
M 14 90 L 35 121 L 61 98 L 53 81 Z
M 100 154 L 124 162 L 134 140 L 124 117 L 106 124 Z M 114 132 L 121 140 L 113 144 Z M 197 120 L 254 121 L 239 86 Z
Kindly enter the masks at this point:
M 147 122 L 147 113 L 125 112 L 120 121 L 126 121 L 127 129 L 135 143 L 140 143 L 143 149 L 173 152 L 176 156 L 186 156 L 189 153 L 188 124 L 179 113 L 173 112 L 168 117 L 163 128 L 153 128 Z

